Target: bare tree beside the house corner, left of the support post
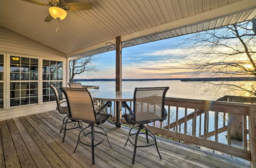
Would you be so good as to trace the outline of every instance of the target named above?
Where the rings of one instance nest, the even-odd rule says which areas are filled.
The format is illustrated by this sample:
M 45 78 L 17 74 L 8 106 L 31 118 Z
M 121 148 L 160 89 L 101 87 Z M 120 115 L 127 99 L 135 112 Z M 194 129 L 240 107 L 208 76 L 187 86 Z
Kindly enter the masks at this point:
M 69 66 L 69 82 L 72 83 L 74 81 L 75 75 L 79 75 L 83 72 L 92 72 L 97 71 L 95 66 L 93 66 L 91 63 L 93 61 L 97 60 L 97 57 L 95 55 L 84 57 L 76 60 L 70 61 Z

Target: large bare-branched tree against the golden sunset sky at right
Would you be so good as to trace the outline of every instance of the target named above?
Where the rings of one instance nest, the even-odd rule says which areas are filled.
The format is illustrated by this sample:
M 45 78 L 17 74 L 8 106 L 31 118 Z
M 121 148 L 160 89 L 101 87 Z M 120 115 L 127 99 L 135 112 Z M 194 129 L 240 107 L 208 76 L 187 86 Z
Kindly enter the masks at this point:
M 255 26 L 255 20 L 227 25 L 195 33 L 182 42 L 184 64 L 196 77 L 209 79 L 201 82 L 207 92 L 240 91 L 242 95 L 256 96 L 256 82 L 249 81 L 256 78 Z M 212 82 L 213 77 L 226 80 Z M 227 81 L 230 77 L 248 80 Z

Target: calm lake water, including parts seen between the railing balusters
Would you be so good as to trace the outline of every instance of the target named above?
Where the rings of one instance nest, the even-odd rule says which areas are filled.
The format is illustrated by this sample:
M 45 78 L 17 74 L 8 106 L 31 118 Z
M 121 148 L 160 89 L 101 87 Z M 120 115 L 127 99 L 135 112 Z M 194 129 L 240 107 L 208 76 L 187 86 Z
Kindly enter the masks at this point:
M 99 89 L 91 89 L 93 97 L 115 97 L 115 81 L 83 81 L 82 85 L 99 86 Z M 191 98 L 191 99 L 204 99 L 204 100 L 216 100 L 225 95 L 239 95 L 235 93 L 222 92 L 222 94 L 212 94 L 205 92 L 205 87 L 196 87 L 200 84 L 197 82 L 183 82 L 180 80 L 155 80 L 155 81 L 123 81 L 122 82 L 122 97 L 133 98 L 133 92 L 135 87 L 169 87 L 166 97 L 178 97 L 178 98 Z M 122 110 L 124 111 L 124 110 Z M 176 107 L 170 108 L 170 121 L 174 122 Z M 188 109 L 187 114 L 190 114 L 194 109 Z M 179 108 L 178 118 L 184 117 L 184 108 Z M 204 119 L 204 114 L 202 114 Z M 197 117 L 199 121 L 199 116 Z M 223 127 L 223 118 L 219 114 L 219 128 Z M 156 126 L 159 123 L 156 123 Z M 187 123 L 188 132 L 191 132 L 191 121 Z M 167 125 L 167 120 L 163 122 L 163 125 Z M 183 126 L 184 127 L 184 126 Z M 181 128 L 181 132 L 184 128 Z M 203 134 L 203 121 L 201 127 L 201 134 Z M 214 111 L 209 111 L 209 131 L 214 130 Z M 199 122 L 197 122 L 197 135 L 199 135 Z M 226 132 L 219 134 L 219 142 L 226 144 Z M 209 137 L 214 139 L 214 137 Z

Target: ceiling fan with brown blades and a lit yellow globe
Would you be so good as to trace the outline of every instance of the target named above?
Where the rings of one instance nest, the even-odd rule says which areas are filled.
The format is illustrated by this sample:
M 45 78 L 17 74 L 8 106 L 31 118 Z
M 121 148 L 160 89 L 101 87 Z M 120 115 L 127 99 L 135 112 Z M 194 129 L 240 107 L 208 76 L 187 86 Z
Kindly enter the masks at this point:
M 93 9 L 92 4 L 87 3 L 66 3 L 64 0 L 48 0 L 48 4 L 35 0 L 22 0 L 28 3 L 41 5 L 49 8 L 49 14 L 46 16 L 45 21 L 50 22 L 53 18 L 57 20 L 65 19 L 67 10 L 78 11 Z

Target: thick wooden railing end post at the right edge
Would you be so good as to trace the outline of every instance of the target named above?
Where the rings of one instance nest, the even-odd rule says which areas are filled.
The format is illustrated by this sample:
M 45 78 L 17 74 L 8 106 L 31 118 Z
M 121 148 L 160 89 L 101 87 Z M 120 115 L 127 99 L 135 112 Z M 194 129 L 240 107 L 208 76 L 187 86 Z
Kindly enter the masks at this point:
M 256 108 L 249 108 L 249 144 L 251 153 L 251 167 L 256 167 Z

